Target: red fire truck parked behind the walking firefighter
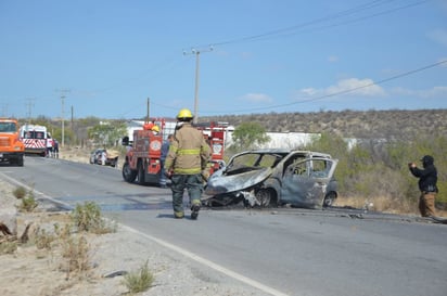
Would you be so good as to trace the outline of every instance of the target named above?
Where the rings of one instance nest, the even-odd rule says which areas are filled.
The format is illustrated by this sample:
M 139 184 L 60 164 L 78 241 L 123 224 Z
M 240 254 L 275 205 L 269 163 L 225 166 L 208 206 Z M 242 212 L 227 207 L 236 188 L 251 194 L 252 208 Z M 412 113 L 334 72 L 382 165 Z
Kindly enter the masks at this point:
M 126 159 L 123 165 L 123 179 L 129 183 L 138 184 L 158 184 L 162 173 L 162 144 L 169 133 L 175 133 L 175 121 L 165 119 L 154 119 L 151 121 L 159 127 L 161 132 L 154 134 L 149 128 L 133 131 L 132 141 L 129 137 L 123 138 L 123 145 L 127 146 Z M 214 171 L 225 166 L 225 132 L 228 127 L 227 123 L 208 123 L 195 126 L 202 131 L 205 140 L 212 147 L 212 159 L 207 167 L 207 173 L 210 176 Z

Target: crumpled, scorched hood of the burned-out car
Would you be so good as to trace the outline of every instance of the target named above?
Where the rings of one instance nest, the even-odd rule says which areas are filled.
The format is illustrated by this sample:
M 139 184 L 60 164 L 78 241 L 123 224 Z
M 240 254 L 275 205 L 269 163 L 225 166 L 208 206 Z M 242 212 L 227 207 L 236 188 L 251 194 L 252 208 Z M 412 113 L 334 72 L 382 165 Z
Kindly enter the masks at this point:
M 218 195 L 251 188 L 270 177 L 273 169 L 260 168 L 232 176 L 226 176 L 224 171 L 225 170 L 221 169 L 213 173 L 206 184 L 205 194 Z M 225 176 L 225 178 L 222 178 L 222 176 Z

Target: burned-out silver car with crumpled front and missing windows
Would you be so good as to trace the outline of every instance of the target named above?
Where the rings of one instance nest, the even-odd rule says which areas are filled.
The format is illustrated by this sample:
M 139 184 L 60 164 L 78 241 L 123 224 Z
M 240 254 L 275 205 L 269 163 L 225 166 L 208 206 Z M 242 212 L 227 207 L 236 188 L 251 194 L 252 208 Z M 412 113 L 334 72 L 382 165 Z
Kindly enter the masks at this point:
M 245 151 L 209 177 L 203 204 L 327 207 L 337 197 L 333 178 L 336 164 L 337 159 L 319 152 Z

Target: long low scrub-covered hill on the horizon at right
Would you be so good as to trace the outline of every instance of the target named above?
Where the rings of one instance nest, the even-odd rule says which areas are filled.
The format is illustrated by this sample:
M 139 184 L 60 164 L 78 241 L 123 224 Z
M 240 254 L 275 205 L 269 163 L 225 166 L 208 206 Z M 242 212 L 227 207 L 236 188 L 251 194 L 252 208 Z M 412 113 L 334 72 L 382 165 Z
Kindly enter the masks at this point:
M 361 139 L 411 140 L 422 134 L 447 134 L 447 110 L 267 113 L 201 117 L 199 121 L 209 120 L 235 127 L 257 121 L 267 131 L 328 132 Z

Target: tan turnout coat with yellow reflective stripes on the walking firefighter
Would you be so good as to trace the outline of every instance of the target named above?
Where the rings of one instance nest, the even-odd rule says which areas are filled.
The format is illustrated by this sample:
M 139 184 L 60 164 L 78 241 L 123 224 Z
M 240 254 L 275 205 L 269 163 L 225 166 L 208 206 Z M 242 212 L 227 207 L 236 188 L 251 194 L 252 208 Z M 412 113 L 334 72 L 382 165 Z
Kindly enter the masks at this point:
M 210 147 L 201 131 L 190 123 L 181 123 L 166 156 L 165 170 L 174 175 L 196 175 L 206 168 Z

